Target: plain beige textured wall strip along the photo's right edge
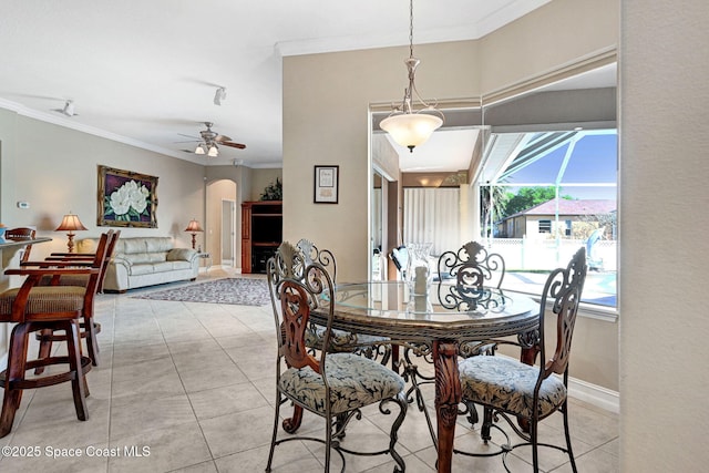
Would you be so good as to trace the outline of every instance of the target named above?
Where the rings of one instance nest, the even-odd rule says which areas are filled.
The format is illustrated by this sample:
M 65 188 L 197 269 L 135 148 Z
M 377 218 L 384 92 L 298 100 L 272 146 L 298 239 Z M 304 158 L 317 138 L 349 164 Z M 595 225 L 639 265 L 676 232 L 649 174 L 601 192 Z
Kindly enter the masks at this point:
M 620 466 L 706 471 L 709 2 L 621 6 Z

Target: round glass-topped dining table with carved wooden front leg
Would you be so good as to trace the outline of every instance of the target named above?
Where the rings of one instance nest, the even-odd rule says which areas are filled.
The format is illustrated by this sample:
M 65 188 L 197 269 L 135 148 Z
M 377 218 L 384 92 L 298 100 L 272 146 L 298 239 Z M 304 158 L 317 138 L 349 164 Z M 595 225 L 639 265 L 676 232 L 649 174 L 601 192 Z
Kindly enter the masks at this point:
M 431 348 L 435 376 L 438 471 L 450 472 L 455 421 L 461 402 L 458 353 L 461 343 L 533 333 L 538 305 L 530 297 L 493 288 L 431 285 L 425 295 L 403 281 L 342 284 L 326 295 L 320 309 L 335 300 L 333 329 L 387 337 L 393 346 Z M 310 315 L 327 322 L 327 310 Z

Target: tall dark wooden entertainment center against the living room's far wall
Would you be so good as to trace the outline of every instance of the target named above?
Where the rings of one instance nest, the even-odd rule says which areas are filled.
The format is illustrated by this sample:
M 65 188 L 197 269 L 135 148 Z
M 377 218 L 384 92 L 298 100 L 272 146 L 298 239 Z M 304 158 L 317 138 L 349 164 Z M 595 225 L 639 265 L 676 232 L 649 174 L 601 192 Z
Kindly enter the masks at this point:
M 242 273 L 266 273 L 284 237 L 282 200 L 242 204 Z

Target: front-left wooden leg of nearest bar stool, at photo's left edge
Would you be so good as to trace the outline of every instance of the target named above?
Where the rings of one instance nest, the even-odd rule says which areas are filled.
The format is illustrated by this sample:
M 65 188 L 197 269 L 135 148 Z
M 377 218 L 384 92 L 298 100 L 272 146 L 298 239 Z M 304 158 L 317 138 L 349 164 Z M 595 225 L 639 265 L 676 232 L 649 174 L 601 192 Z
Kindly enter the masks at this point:
M 8 369 L 4 376 L 4 397 L 2 399 L 2 413 L 0 413 L 0 438 L 6 436 L 12 430 L 14 413 L 22 400 L 22 390 L 14 388 L 14 384 L 16 381 L 24 380 L 29 329 L 30 323 L 18 323 L 10 336 Z

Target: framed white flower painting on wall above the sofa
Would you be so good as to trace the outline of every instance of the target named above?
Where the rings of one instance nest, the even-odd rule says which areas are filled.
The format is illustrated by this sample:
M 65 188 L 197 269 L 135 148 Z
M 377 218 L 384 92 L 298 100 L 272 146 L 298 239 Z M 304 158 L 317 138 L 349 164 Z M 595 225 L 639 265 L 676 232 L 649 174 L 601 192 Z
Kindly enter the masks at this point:
M 157 228 L 157 177 L 99 165 L 97 225 Z

